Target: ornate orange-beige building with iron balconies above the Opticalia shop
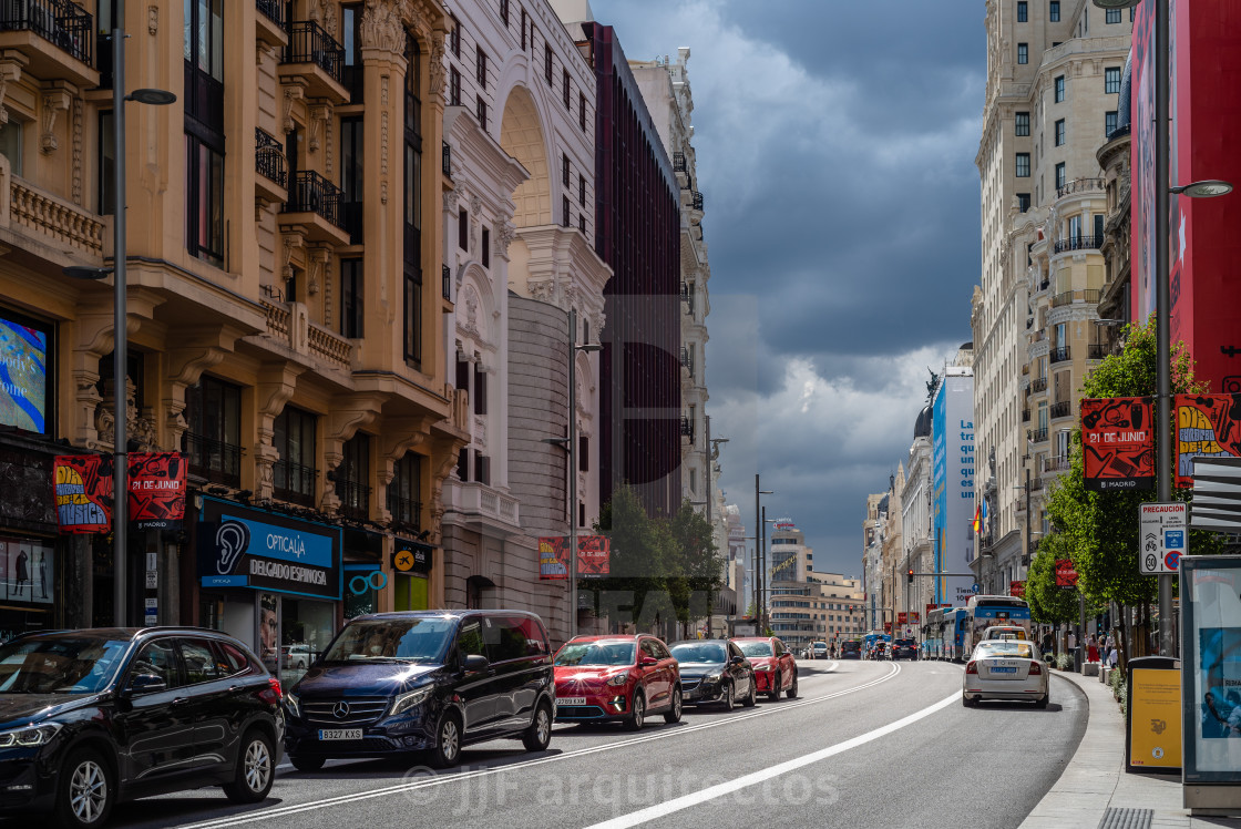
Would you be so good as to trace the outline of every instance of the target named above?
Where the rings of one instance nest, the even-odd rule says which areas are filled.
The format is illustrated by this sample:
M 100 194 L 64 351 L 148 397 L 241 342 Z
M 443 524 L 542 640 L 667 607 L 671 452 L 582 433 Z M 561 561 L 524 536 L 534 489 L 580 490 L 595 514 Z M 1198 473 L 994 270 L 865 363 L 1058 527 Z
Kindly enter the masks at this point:
M 127 87 L 176 102 L 128 104 L 120 148 L 96 35 L 113 6 L 0 26 L 0 316 L 46 334 L 48 366 L 46 427 L 6 448 L 48 493 L 51 454 L 114 449 L 112 279 L 62 268 L 110 264 L 123 154 L 129 448 L 189 467 L 184 529 L 130 534 L 129 621 L 254 644 L 274 613 L 313 650 L 349 616 L 442 606 L 442 486 L 470 429 L 444 359 L 442 4 L 128 0 Z M 110 623 L 108 537 L 0 511 L 55 551 L 56 618 L 21 622 Z M 221 516 L 323 540 L 324 589 L 204 576 Z

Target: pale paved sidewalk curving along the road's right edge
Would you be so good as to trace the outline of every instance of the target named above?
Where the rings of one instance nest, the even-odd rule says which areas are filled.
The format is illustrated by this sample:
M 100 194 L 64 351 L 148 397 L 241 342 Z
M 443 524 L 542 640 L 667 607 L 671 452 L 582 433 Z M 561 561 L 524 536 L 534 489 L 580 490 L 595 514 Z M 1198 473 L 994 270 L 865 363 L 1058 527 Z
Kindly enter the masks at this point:
M 1055 678 L 1062 678 L 1057 681 Z M 1112 690 L 1097 676 L 1052 671 L 1051 699 L 1076 692 L 1086 696 L 1086 733 L 1051 791 L 1034 807 L 1021 829 L 1207 829 L 1241 828 L 1241 818 L 1191 818 L 1181 807 L 1179 774 L 1124 772 L 1124 716 Z M 1104 823 L 1106 820 L 1106 823 Z

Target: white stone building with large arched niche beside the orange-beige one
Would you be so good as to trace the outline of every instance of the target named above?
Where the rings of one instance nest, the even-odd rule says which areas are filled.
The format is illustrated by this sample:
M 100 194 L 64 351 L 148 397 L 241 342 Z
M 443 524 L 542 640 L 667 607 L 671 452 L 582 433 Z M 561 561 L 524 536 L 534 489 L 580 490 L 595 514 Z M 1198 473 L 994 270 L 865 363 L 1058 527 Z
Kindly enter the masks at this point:
M 446 352 L 472 410 L 444 484 L 446 603 L 535 611 L 561 639 L 567 585 L 539 580 L 536 541 L 599 509 L 597 356 L 568 331 L 576 310 L 576 343 L 596 341 L 609 276 L 592 247 L 594 76 L 546 0 L 453 4 L 443 61 Z M 570 437 L 573 375 L 570 470 L 547 441 Z

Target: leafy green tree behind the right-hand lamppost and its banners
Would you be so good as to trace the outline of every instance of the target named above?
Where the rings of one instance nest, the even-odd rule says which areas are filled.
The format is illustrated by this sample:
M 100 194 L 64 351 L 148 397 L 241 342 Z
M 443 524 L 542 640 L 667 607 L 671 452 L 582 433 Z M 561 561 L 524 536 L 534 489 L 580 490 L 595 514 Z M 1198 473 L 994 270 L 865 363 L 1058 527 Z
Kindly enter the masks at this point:
M 1106 357 L 1086 376 L 1082 397 L 1149 397 L 1157 393 L 1154 320 L 1129 325 L 1124 335 L 1124 350 Z M 1205 391 L 1205 385 L 1194 377 L 1194 361 L 1184 343 L 1173 346 L 1170 381 L 1173 393 Z M 1155 450 L 1165 452 L 1174 423 L 1154 432 Z M 1087 491 L 1081 439 L 1078 427 L 1072 434 L 1071 470 L 1050 488 L 1047 515 L 1054 532 L 1042 545 L 1050 544 L 1069 553 L 1077 568 L 1078 588 L 1088 601 L 1139 607 L 1147 622 L 1158 582 L 1154 576 L 1140 575 L 1138 568 L 1138 505 L 1155 500 L 1155 491 Z M 1174 500 L 1189 501 L 1191 496 L 1191 490 L 1173 490 Z M 1221 547 L 1211 534 L 1191 531 L 1190 549 L 1195 555 L 1210 555 Z

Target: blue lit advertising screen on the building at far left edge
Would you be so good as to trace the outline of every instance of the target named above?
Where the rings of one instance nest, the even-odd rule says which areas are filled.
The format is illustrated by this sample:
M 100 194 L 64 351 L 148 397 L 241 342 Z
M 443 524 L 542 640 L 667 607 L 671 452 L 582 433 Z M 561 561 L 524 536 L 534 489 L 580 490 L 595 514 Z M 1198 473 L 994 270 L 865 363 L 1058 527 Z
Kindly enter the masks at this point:
M 48 329 L 0 311 L 0 426 L 47 431 Z

